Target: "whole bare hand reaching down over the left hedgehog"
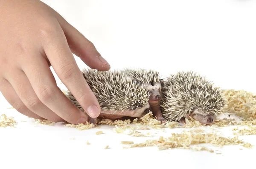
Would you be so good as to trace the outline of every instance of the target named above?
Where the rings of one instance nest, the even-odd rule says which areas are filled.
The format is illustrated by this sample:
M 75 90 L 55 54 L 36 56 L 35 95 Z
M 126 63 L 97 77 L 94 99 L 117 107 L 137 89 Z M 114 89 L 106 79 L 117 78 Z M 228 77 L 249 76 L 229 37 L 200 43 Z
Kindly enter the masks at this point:
M 99 115 L 99 103 L 72 52 L 90 68 L 107 71 L 110 65 L 56 11 L 39 0 L 1 0 L 0 40 L 0 91 L 18 112 L 73 124 Z M 85 113 L 61 92 L 49 66 Z

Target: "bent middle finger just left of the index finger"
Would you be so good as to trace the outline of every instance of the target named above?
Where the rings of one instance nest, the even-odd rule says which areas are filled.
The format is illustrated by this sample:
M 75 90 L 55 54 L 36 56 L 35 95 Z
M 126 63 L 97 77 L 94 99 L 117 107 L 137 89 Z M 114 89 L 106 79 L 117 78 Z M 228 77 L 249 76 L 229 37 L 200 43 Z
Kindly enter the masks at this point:
M 74 106 L 67 96 L 61 92 L 56 85 L 47 61 L 43 57 L 32 57 L 29 63 L 23 63 L 22 69 L 39 100 L 52 112 L 55 112 L 69 123 L 86 123 L 88 116 Z

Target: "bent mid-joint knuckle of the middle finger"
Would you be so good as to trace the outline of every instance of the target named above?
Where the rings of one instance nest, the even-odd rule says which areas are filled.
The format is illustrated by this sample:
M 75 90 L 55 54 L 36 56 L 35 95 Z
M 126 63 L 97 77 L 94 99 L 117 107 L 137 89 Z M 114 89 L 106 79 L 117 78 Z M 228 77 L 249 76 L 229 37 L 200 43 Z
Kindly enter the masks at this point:
M 48 84 L 43 84 L 39 87 L 38 97 L 42 102 L 49 102 L 53 100 L 55 90 Z

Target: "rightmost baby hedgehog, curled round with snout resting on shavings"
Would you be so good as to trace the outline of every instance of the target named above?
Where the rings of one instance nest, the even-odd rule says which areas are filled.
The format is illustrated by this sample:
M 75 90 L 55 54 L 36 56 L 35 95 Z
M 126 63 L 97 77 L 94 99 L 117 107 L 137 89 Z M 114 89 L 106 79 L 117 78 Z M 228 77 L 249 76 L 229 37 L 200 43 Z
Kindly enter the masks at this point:
M 185 118 L 191 120 L 189 116 L 202 124 L 214 123 L 226 104 L 221 90 L 194 72 L 167 77 L 162 92 L 163 117 L 180 123 L 185 123 Z

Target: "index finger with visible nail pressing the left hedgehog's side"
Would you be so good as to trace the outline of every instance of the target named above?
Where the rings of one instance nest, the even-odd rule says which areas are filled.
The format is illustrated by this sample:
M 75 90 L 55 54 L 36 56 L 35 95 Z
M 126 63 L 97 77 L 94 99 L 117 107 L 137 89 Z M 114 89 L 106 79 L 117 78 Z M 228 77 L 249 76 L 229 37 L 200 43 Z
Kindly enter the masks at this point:
M 62 30 L 52 36 L 54 38 L 44 45 L 44 51 L 53 69 L 85 112 L 92 118 L 98 117 L 99 102 L 79 70 Z

